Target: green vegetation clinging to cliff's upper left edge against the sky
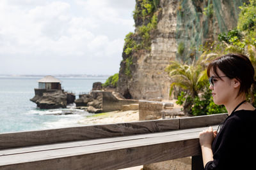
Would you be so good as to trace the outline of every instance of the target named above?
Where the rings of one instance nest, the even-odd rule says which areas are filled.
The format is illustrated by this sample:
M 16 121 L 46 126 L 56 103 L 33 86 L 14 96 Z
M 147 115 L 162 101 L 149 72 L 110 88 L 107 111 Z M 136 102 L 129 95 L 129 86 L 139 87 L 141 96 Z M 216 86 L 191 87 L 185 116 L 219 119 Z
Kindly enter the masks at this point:
M 136 22 L 136 31 L 129 32 L 125 36 L 124 53 L 125 75 L 132 76 L 132 53 L 138 50 L 151 50 L 151 33 L 157 27 L 157 15 L 159 10 L 158 0 L 138 0 L 133 11 Z

